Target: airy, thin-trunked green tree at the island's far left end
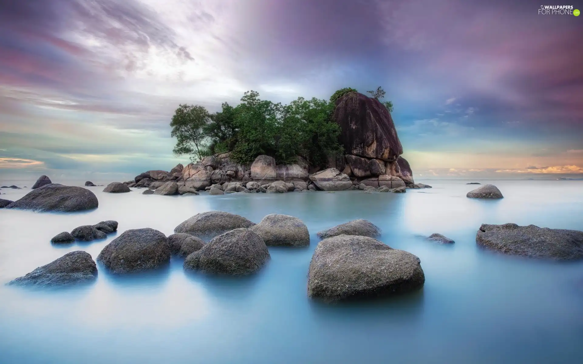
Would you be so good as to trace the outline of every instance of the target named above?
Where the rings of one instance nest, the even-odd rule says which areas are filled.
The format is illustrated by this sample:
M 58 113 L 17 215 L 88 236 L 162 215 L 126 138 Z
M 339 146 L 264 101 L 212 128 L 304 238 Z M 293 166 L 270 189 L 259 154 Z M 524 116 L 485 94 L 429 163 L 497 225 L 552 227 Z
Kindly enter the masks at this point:
M 206 155 L 207 137 L 203 131 L 210 121 L 209 112 L 201 105 L 181 104 L 172 116 L 170 136 L 176 137 L 174 154 L 191 154 L 201 160 Z

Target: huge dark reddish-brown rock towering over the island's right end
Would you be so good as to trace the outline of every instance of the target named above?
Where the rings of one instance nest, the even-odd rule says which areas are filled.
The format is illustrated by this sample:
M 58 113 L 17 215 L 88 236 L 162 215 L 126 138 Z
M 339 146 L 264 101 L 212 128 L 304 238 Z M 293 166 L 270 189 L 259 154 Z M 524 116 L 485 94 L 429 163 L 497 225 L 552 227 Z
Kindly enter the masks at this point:
M 391 114 L 375 98 L 347 93 L 336 101 L 333 118 L 348 154 L 395 161 L 403 153 Z

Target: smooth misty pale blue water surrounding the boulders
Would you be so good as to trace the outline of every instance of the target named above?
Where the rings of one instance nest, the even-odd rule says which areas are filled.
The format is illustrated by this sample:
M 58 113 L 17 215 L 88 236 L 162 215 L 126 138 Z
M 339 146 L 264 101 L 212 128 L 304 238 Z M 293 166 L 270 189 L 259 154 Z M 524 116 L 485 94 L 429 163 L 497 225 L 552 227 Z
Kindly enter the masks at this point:
M 503 192 L 498 201 L 467 199 L 477 186 L 466 182 L 430 181 L 433 189 L 405 194 L 188 197 L 93 187 L 99 208 L 87 213 L 0 210 L 0 362 L 583 362 L 583 262 L 504 256 L 475 243 L 482 223 L 583 230 L 583 181 L 488 181 Z M 3 189 L 1 197 L 28 191 Z M 269 248 L 271 261 L 253 277 L 185 274 L 172 260 L 167 270 L 133 277 L 99 267 L 97 281 L 83 288 L 3 285 L 72 250 L 96 258 L 116 236 L 59 248 L 50 243 L 58 232 L 117 220 L 117 234 L 150 227 L 170 235 L 208 210 L 255 222 L 294 215 L 307 224 L 311 245 Z M 421 291 L 336 305 L 308 299 L 315 233 L 356 218 L 380 226 L 383 242 L 420 257 Z M 422 238 L 433 232 L 455 245 Z

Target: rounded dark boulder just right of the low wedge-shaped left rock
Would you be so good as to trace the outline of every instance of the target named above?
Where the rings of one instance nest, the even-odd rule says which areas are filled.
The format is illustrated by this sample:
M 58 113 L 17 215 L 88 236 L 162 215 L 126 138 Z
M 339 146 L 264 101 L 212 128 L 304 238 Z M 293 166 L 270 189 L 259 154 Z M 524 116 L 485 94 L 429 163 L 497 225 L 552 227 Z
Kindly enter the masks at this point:
M 113 274 L 152 270 L 170 262 L 170 245 L 160 231 L 130 229 L 107 244 L 97 261 Z

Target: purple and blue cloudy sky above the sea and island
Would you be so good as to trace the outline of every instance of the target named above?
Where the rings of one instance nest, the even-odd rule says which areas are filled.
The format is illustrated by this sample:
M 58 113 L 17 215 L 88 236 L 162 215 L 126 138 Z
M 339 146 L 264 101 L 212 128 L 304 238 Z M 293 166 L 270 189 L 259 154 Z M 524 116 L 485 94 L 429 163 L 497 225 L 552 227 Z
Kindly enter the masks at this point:
M 574 3 L 583 9 L 583 3 Z M 416 178 L 583 175 L 583 16 L 533 1 L 5 0 L 0 174 L 169 170 L 180 103 L 382 86 Z M 6 179 L 6 178 L 2 178 Z

